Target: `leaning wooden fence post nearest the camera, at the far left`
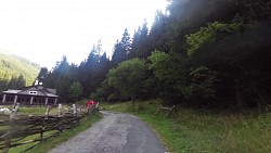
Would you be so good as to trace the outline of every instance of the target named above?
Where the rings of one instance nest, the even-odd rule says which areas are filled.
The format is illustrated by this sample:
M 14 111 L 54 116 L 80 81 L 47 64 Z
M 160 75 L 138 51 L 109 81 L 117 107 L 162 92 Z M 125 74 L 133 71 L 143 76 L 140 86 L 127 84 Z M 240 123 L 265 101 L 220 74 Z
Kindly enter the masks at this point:
M 11 136 L 11 132 L 13 131 L 14 129 L 14 125 L 12 124 L 13 120 L 17 117 L 17 110 L 18 110 L 18 106 L 20 104 L 18 103 L 15 103 L 13 105 L 13 109 L 12 109 L 12 112 L 11 112 L 11 115 L 10 115 L 10 123 L 11 123 L 11 129 L 8 131 L 8 135 L 7 135 L 7 138 L 4 139 L 4 148 L 2 150 L 2 153 L 8 153 L 9 152 L 9 149 L 10 149 L 10 144 L 11 144 L 11 139 L 12 139 L 12 136 Z

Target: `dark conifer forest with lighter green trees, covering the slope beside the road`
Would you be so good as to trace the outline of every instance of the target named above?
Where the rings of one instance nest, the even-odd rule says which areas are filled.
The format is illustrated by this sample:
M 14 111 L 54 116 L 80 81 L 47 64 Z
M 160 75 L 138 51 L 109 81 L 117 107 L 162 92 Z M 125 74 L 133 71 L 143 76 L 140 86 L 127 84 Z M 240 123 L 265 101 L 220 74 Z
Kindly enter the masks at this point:
M 99 40 L 79 65 L 63 56 L 39 76 L 64 103 L 160 98 L 165 104 L 264 111 L 270 49 L 270 0 L 169 0 L 151 28 L 144 21 L 132 36 L 124 29 L 112 58 Z

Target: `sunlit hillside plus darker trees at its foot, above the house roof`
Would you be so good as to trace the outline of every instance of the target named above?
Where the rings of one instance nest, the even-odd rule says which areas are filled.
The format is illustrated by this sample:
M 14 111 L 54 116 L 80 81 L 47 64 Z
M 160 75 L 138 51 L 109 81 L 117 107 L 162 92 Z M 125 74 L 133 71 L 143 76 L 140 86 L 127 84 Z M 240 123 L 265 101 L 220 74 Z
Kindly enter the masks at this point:
M 39 65 L 0 50 L 0 91 L 30 86 L 38 73 Z

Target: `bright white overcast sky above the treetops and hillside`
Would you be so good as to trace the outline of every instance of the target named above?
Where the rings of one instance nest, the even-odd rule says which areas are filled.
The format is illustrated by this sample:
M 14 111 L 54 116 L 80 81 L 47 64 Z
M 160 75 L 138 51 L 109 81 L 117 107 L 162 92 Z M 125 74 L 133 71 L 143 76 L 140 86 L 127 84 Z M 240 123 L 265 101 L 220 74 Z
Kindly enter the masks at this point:
M 0 48 L 51 68 L 63 55 L 79 64 L 101 39 L 112 54 L 127 27 L 131 37 L 167 0 L 0 0 Z

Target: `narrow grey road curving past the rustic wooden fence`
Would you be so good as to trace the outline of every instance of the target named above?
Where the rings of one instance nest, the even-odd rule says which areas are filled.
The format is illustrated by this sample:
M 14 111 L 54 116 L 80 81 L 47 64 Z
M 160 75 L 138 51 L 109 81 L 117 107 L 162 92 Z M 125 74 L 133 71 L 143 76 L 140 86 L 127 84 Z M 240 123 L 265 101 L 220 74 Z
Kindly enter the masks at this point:
M 49 153 L 165 153 L 156 135 L 134 115 L 102 112 L 91 128 Z

